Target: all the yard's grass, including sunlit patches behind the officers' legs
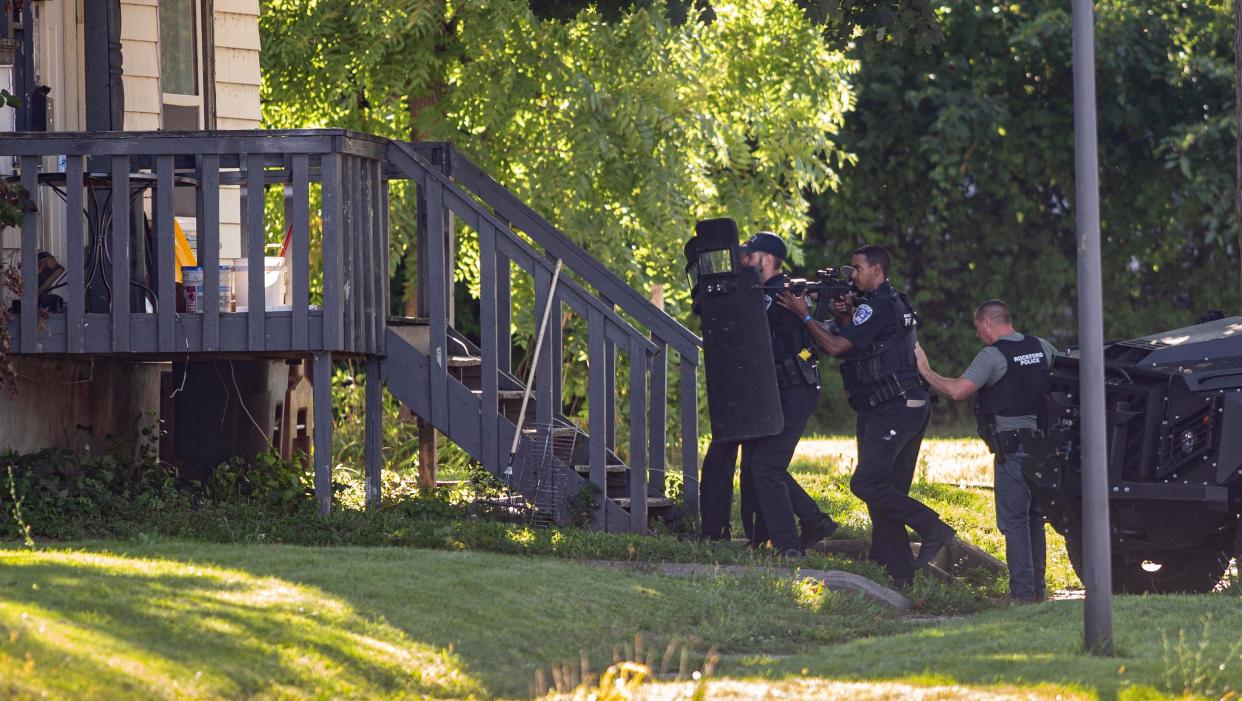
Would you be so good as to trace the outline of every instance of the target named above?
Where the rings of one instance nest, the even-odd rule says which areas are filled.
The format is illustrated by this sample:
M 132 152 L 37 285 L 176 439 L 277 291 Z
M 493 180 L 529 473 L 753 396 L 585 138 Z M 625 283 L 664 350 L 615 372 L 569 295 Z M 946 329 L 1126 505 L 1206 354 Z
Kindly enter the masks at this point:
M 843 536 L 866 537 L 851 457 L 830 452 L 841 444 L 804 441 L 792 472 Z M 929 440 L 925 451 L 936 467 L 975 460 L 975 477 L 990 475 L 976 444 Z M 932 481 L 940 474 L 920 470 L 913 493 L 1004 554 L 991 491 Z M 708 699 L 1222 699 L 1242 689 L 1236 582 L 1225 594 L 1118 598 L 1118 656 L 1100 659 L 1082 651 L 1079 602 L 997 608 L 1004 575 L 946 584 L 920 574 L 914 613 L 933 620 L 917 623 L 776 575 L 738 544 L 530 528 L 436 500 L 366 513 L 343 496 L 347 508 L 328 518 L 180 507 L 109 525 L 122 539 L 36 536 L 35 549 L 0 549 L 0 697 L 523 697 L 537 670 L 578 667 L 585 655 L 599 674 L 636 636 L 696 659 L 715 648 Z M 677 579 L 574 562 L 594 558 L 749 563 L 756 574 Z M 805 566 L 884 580 L 842 557 Z M 1077 587 L 1056 536 L 1049 587 Z

